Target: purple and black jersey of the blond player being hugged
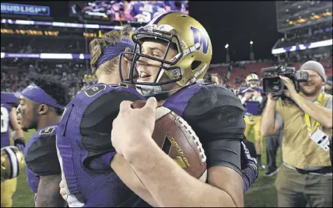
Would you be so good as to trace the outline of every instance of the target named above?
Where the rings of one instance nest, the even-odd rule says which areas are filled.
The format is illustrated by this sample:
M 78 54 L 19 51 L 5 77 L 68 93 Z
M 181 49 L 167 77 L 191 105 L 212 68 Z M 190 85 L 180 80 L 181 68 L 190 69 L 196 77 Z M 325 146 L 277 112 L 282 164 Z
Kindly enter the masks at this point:
M 131 87 L 95 84 L 66 106 L 57 149 L 70 207 L 149 207 L 110 167 L 112 121 L 121 101 L 145 100 Z

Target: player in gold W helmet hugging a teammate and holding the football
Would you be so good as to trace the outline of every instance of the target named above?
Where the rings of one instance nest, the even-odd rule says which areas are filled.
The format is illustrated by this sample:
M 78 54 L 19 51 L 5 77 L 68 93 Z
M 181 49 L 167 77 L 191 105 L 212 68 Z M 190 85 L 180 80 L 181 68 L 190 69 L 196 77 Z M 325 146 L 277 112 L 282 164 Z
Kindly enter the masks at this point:
M 149 98 L 142 109 L 131 109 L 131 101 L 121 103 L 112 145 L 146 189 L 135 184 L 128 169 L 117 172 L 119 177 L 147 202 L 152 197 L 161 207 L 244 206 L 240 163 L 244 107 L 228 89 L 202 82 L 212 59 L 205 28 L 183 13 L 165 13 L 138 29 L 133 40 L 135 53 L 121 54 L 133 55 L 131 77 L 121 80 L 135 84 L 142 96 L 154 96 L 158 103 Z M 157 105 L 182 116 L 197 133 L 207 153 L 206 184 L 187 174 L 151 138 Z

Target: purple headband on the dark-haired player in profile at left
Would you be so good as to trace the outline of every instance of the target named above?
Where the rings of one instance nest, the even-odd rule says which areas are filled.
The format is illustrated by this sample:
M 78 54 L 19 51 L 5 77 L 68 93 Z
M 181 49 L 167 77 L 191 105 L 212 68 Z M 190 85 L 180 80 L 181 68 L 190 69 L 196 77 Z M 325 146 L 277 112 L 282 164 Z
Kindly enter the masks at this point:
M 31 101 L 35 101 L 36 103 L 47 104 L 52 107 L 64 109 L 64 106 L 59 105 L 57 101 L 54 100 L 54 98 L 47 94 L 43 89 L 38 87 L 35 83 L 31 83 L 22 91 L 21 94 L 22 96 L 28 98 Z

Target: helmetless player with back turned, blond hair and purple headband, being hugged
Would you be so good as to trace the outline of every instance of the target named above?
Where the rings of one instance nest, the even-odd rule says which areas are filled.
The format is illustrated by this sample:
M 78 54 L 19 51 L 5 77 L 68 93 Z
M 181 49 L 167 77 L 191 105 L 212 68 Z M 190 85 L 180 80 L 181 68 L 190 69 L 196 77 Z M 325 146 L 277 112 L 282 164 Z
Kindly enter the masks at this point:
M 91 41 L 91 68 L 98 84 L 66 105 L 59 124 L 57 149 L 65 189 L 61 193 L 69 207 L 149 207 L 115 173 L 124 161 L 114 157 L 110 141 L 121 101 L 145 100 L 119 77 L 119 54 L 133 52 L 131 33 L 131 27 L 124 27 Z M 129 59 L 123 56 L 120 61 L 129 66 Z M 128 77 L 128 71 L 126 67 L 121 73 Z

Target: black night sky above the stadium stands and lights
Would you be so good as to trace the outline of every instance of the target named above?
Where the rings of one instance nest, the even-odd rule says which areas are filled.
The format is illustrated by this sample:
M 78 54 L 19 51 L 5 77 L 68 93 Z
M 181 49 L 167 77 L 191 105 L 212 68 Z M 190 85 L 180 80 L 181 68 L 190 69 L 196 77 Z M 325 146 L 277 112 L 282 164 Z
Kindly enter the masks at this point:
M 68 1 L 9 2 L 50 6 L 51 16 L 59 21 L 65 21 L 64 17 L 69 14 Z M 230 45 L 231 60 L 249 60 L 250 40 L 253 40 L 255 59 L 272 58 L 274 43 L 283 37 L 276 29 L 274 1 L 190 1 L 189 10 L 212 40 L 212 64 L 225 61 L 226 43 Z

